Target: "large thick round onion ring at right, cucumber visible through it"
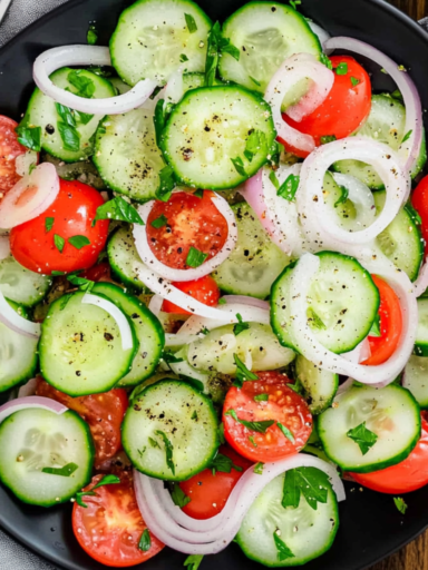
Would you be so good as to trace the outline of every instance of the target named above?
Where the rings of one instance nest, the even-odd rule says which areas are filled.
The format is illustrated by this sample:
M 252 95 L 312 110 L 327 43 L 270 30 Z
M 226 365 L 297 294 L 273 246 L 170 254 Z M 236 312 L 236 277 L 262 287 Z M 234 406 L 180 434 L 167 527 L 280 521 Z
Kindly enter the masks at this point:
M 338 216 L 324 203 L 324 174 L 337 160 L 362 160 L 372 165 L 381 177 L 387 199 L 382 212 L 367 228 L 348 232 L 338 225 Z M 372 242 L 395 219 L 410 189 L 410 176 L 402 170 L 397 155 L 380 142 L 349 137 L 317 148 L 303 163 L 296 205 L 302 226 L 320 249 L 342 250 L 343 245 Z

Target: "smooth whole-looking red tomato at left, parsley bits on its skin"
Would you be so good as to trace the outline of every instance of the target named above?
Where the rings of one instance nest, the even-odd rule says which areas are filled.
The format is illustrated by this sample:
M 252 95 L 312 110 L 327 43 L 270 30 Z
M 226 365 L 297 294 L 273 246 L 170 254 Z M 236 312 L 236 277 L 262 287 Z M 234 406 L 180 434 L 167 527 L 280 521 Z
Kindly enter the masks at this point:
M 90 186 L 60 180 L 54 204 L 37 218 L 11 230 L 13 257 L 28 269 L 46 275 L 52 271 L 68 273 L 91 267 L 107 242 L 108 220 L 98 220 L 91 226 L 103 204 L 101 195 Z M 49 217 L 54 218 L 54 226 L 47 232 L 46 218 Z M 62 253 L 55 245 L 55 235 L 65 240 Z M 78 249 L 68 242 L 74 236 L 85 236 L 90 244 Z

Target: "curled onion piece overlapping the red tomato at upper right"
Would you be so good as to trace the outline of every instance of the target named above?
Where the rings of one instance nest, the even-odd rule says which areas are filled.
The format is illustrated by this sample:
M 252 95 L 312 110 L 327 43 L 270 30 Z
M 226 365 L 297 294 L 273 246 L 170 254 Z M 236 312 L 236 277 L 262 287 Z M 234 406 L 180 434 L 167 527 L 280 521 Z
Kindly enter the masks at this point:
M 313 137 L 304 135 L 288 125 L 281 112 L 284 96 L 302 79 L 312 79 L 312 86 L 299 104 L 288 110 L 288 114 L 291 112 L 290 116 L 295 120 L 302 120 L 303 117 L 314 111 L 325 100 L 334 82 L 333 71 L 320 63 L 314 56 L 298 53 L 285 59 L 271 79 L 264 98 L 272 107 L 278 136 L 293 148 L 312 153 L 315 148 Z

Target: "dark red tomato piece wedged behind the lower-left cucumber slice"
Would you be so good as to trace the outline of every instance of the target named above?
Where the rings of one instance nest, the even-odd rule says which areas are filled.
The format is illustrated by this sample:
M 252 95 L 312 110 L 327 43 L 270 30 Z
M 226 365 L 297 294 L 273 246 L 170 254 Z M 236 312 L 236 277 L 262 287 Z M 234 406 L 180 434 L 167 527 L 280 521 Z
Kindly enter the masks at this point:
M 95 469 L 111 459 L 121 449 L 120 426 L 128 396 L 124 389 L 114 389 L 101 394 L 71 397 L 39 379 L 36 393 L 50 397 L 77 412 L 88 424 L 95 443 Z

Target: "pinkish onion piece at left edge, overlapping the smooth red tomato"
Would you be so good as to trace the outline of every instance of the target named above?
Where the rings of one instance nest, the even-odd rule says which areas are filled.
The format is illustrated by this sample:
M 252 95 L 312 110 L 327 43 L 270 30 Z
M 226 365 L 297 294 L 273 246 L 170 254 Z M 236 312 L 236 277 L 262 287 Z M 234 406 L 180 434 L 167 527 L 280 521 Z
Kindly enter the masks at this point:
M 51 206 L 59 193 L 59 177 L 50 163 L 26 175 L 0 202 L 0 227 L 12 228 L 37 218 Z

